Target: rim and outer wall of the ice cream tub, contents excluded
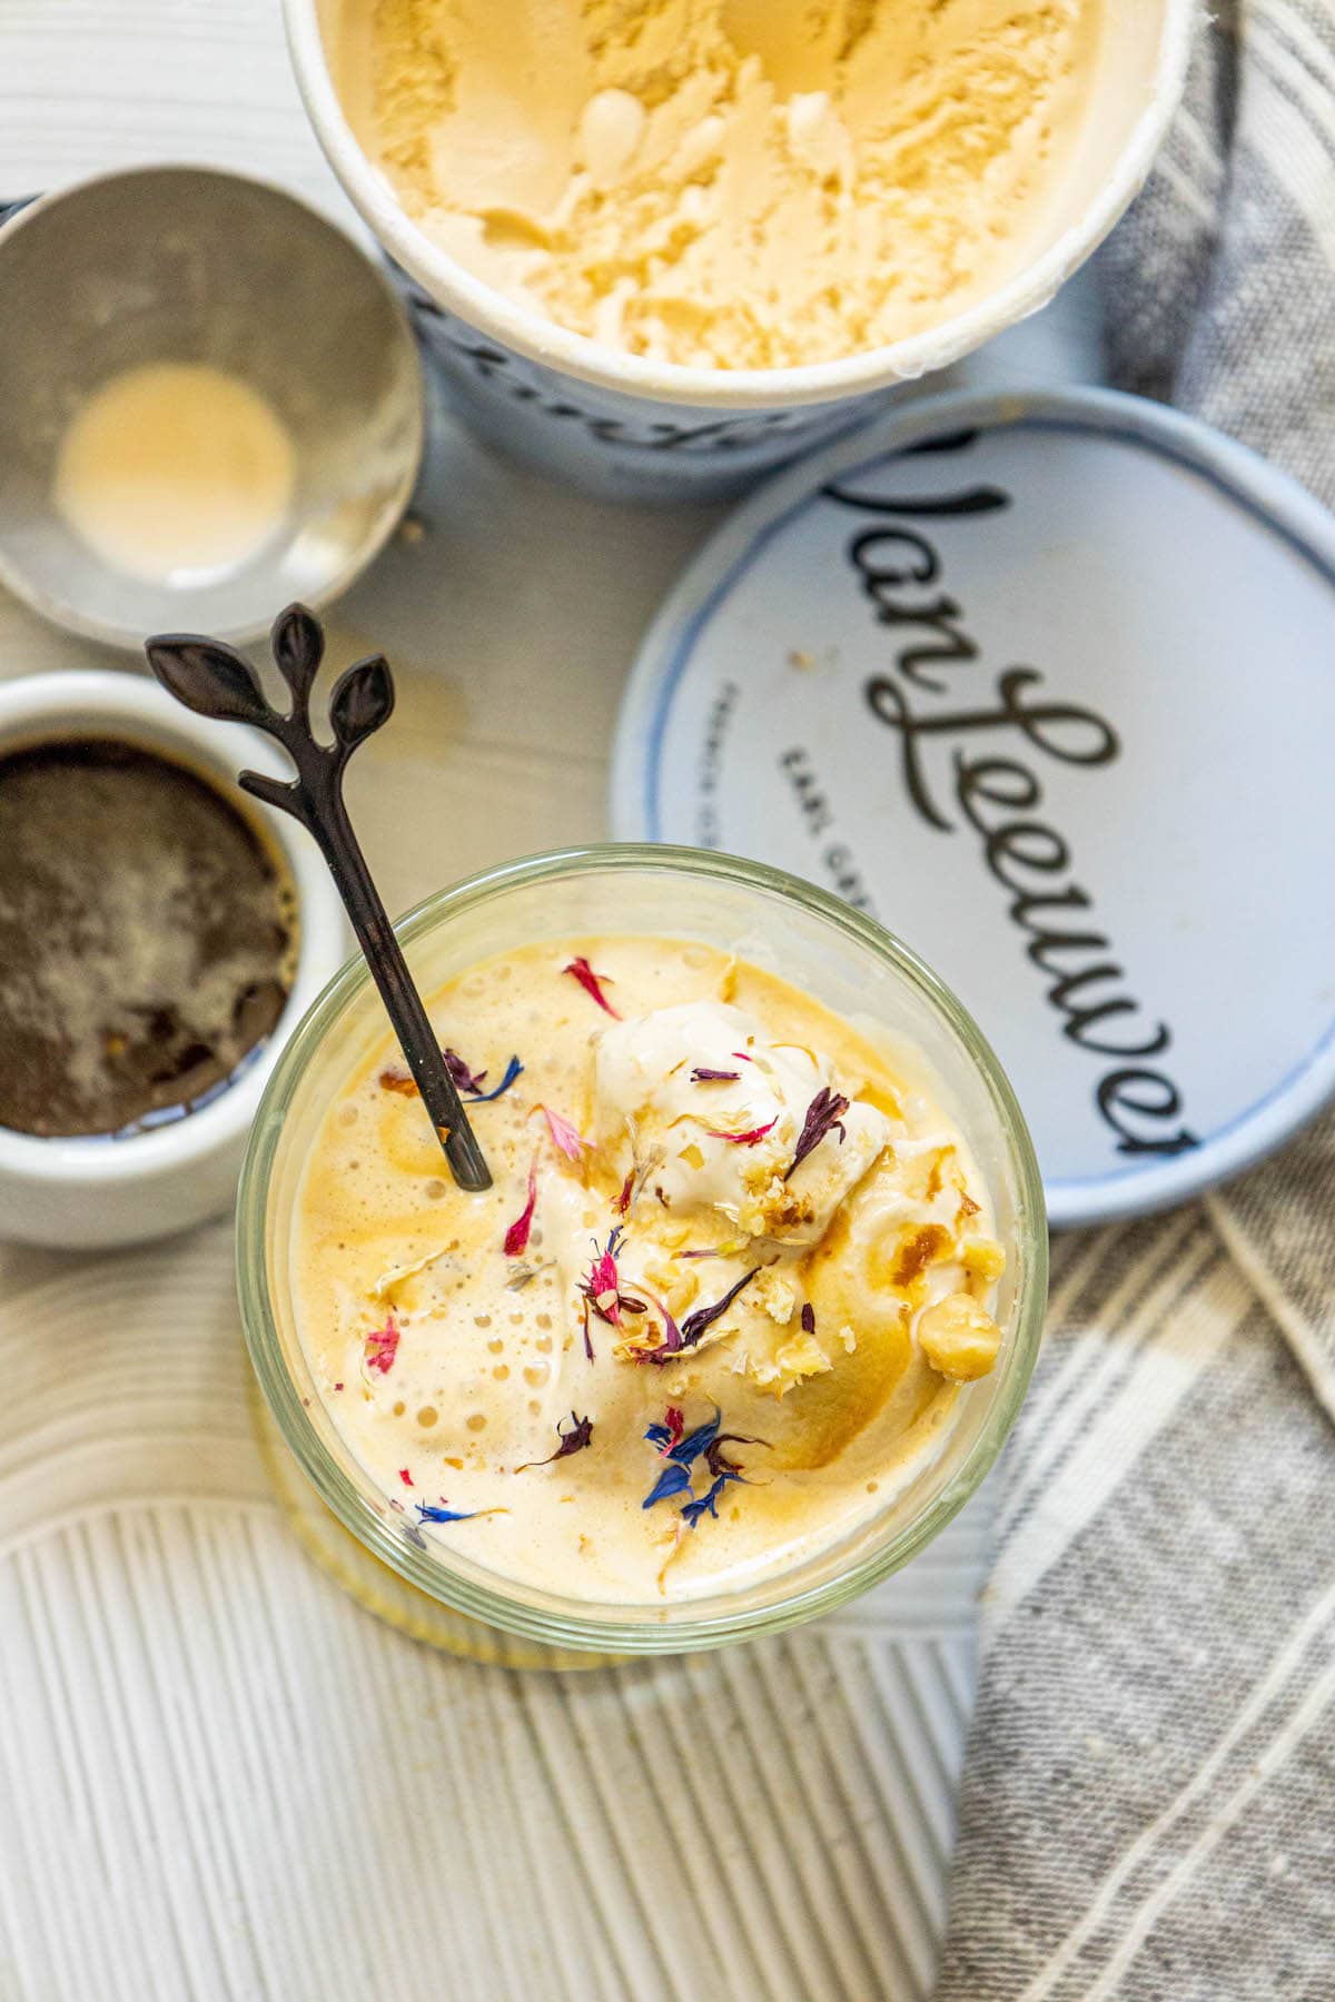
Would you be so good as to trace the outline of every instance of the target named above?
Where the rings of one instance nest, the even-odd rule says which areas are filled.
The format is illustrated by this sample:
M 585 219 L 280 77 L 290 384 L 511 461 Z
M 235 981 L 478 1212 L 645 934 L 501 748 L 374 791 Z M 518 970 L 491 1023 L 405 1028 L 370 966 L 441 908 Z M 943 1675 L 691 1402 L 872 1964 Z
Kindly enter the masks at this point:
M 969 354 L 1085 262 L 1141 188 L 1177 106 L 1197 0 L 1105 0 L 1089 106 L 1029 254 L 949 320 L 805 368 L 687 368 L 620 354 L 504 298 L 440 250 L 366 158 L 336 82 L 346 26 L 368 0 L 284 0 L 296 80 L 342 186 L 410 280 L 422 336 L 454 400 L 494 442 L 592 492 L 673 500 L 747 486 L 873 414 L 897 384 Z M 344 58 L 346 60 L 346 58 Z

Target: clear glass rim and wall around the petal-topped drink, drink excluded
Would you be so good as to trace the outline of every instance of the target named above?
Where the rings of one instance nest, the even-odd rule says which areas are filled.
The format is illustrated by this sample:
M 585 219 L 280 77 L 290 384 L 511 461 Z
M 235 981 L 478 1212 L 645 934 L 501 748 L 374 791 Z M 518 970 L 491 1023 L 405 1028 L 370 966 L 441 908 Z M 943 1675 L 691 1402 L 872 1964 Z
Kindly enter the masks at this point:
M 426 997 L 482 959 L 588 933 L 691 939 L 735 951 L 849 1017 L 901 1071 L 923 1075 L 961 1125 L 993 1197 L 993 1227 L 1007 1249 L 995 1305 L 1003 1343 L 991 1375 L 965 1385 L 937 1459 L 877 1516 L 781 1576 L 693 1600 L 598 1604 L 514 1584 L 454 1550 L 420 1548 L 324 1409 L 292 1301 L 292 1217 L 308 1151 L 330 1099 L 386 1035 L 364 963 L 346 965 L 286 1045 L 252 1127 L 238 1205 L 246 1343 L 276 1429 L 320 1501 L 396 1574 L 398 1586 L 414 1588 L 404 1594 L 394 1586 L 372 1600 L 374 1610 L 460 1652 L 542 1666 L 681 1654 L 773 1634 L 843 1606 L 899 1570 L 963 1508 L 995 1461 L 1033 1371 L 1047 1301 L 1043 1185 L 1015 1093 L 955 995 L 865 913 L 761 863 L 616 845 L 488 869 L 428 897 L 398 925 Z M 286 1469 L 280 1475 L 282 1485 Z M 340 1570 L 328 1560 L 326 1568 Z M 348 1576 L 342 1582 L 352 1584 Z M 404 1616 L 414 1604 L 424 1614 L 438 1610 L 442 1620 L 414 1628 Z M 494 1648 L 464 1640 L 476 1632 L 472 1622 L 498 1630 Z M 514 1640 L 524 1646 L 516 1650 Z

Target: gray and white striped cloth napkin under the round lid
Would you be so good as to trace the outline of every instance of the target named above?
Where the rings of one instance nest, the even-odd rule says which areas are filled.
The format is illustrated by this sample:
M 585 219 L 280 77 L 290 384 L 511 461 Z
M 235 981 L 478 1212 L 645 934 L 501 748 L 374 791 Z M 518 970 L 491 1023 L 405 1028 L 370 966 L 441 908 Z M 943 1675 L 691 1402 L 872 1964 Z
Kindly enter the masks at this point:
M 1335 505 L 1331 0 L 1219 10 L 1099 270 L 1117 382 Z M 939 2002 L 1335 1998 L 1331 1419 L 1335 1115 L 1057 1245 Z

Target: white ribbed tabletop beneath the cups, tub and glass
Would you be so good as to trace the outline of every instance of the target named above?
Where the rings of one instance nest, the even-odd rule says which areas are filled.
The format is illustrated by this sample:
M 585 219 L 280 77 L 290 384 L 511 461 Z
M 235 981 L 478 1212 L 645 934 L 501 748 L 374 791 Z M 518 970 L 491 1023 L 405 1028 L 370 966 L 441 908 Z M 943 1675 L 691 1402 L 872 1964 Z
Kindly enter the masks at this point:
M 0 0 L 0 198 L 140 160 L 350 222 L 276 0 Z M 14 310 L 6 302 L 2 310 Z M 1093 372 L 1079 290 L 969 368 Z M 566 494 L 436 422 L 330 623 L 394 727 L 350 799 L 390 905 L 604 831 L 624 671 L 719 511 Z M 126 665 L 0 595 L 0 675 Z M 0 1247 L 0 2002 L 917 2002 L 945 1920 L 985 1504 L 795 1636 L 582 1676 L 360 1612 L 272 1501 L 230 1227 Z

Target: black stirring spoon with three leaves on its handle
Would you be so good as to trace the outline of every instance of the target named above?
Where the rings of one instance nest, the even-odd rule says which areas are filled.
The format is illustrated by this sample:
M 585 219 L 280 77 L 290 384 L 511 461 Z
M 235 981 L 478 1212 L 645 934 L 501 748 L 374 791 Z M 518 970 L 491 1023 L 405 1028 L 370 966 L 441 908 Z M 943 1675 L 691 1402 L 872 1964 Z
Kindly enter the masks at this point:
M 270 645 L 278 673 L 292 691 L 286 715 L 270 707 L 250 663 L 222 641 L 194 633 L 160 633 L 144 651 L 154 675 L 178 703 L 200 717 L 250 723 L 252 729 L 274 737 L 296 765 L 296 779 L 268 779 L 258 771 L 242 771 L 240 785 L 254 799 L 290 813 L 318 841 L 444 1147 L 450 1173 L 460 1189 L 488 1189 L 486 1159 L 468 1125 L 422 997 L 412 985 L 402 947 L 370 879 L 342 799 L 348 759 L 394 709 L 388 663 L 382 655 L 372 655 L 344 669 L 328 703 L 334 741 L 322 745 L 310 727 L 310 689 L 324 659 L 320 621 L 304 605 L 288 605 L 274 619 Z

